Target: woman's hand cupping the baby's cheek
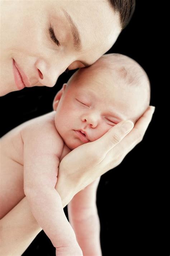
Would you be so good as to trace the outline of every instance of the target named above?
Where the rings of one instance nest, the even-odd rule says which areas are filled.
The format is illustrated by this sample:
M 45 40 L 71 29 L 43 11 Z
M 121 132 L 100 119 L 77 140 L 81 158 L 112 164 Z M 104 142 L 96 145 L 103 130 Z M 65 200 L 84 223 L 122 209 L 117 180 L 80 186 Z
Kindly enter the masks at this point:
M 56 189 L 63 206 L 74 194 L 85 188 L 96 178 L 119 165 L 124 157 L 142 141 L 152 119 L 155 107 L 149 106 L 133 127 L 131 121 L 122 121 L 100 139 L 83 144 L 67 154 L 59 165 L 60 184 L 67 180 L 67 189 Z M 128 125 L 127 129 L 125 125 Z M 133 129 L 132 129 L 133 128 Z

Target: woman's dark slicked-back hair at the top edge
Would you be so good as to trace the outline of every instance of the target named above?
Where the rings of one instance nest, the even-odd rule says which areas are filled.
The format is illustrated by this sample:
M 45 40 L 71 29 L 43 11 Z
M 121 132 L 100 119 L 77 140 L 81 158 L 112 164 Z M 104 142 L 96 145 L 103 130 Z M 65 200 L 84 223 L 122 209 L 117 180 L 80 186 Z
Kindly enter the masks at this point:
M 120 15 L 121 28 L 125 28 L 132 18 L 135 0 L 107 0 L 109 5 Z

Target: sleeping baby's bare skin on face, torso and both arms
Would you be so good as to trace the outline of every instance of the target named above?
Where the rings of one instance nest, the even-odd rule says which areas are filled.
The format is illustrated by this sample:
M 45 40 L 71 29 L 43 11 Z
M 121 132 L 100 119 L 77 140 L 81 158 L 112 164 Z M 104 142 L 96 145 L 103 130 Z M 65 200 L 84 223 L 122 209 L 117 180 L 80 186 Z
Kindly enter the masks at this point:
M 62 210 L 60 195 L 55 190 L 58 166 L 71 149 L 85 143 L 75 130 L 84 130 L 89 140 L 87 143 L 90 143 L 127 117 L 135 122 L 143 108 L 141 94 L 143 99 L 146 95 L 142 89 L 131 89 L 122 98 L 124 88 L 121 83 L 124 81 L 118 81 L 117 77 L 114 81 L 114 75 L 106 72 L 100 75 L 91 67 L 78 76 L 79 73 L 76 72 L 69 86 L 64 84 L 57 93 L 53 103 L 56 112 L 26 122 L 2 138 L 4 183 L 1 218 L 25 194 L 34 217 L 57 250 L 64 248 L 66 255 L 81 255 L 81 247 L 84 255 L 101 255 L 100 225 L 95 205 L 99 179 L 86 187 L 86 193 L 83 190 L 79 192 L 69 206 L 69 219 L 79 247 Z M 115 112 L 111 113 L 111 109 Z M 11 149 L 10 152 L 5 145 Z M 19 169 L 24 181 L 18 172 L 17 175 L 11 172 Z M 12 189 L 6 190 L 7 187 Z

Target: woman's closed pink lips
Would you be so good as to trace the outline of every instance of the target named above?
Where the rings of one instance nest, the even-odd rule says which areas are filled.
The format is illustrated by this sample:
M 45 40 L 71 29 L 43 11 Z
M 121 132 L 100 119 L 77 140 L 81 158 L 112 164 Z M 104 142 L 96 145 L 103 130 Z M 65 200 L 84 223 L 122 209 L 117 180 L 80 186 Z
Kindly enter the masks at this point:
M 27 76 L 25 75 L 23 70 L 19 68 L 19 66 L 17 65 L 14 59 L 13 59 L 13 71 L 14 71 L 15 84 L 19 90 L 22 90 L 25 86 L 26 87 L 30 86 Z

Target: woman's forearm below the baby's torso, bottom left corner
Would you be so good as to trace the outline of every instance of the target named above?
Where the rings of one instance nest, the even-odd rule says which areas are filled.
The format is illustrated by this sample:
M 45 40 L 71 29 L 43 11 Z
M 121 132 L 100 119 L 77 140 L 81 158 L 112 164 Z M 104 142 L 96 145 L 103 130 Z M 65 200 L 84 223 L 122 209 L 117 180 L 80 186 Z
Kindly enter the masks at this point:
M 0 223 L 0 254 L 3 256 L 22 255 L 42 230 L 30 211 L 26 197 L 8 212 Z

